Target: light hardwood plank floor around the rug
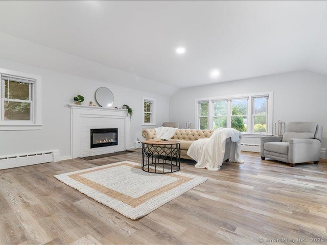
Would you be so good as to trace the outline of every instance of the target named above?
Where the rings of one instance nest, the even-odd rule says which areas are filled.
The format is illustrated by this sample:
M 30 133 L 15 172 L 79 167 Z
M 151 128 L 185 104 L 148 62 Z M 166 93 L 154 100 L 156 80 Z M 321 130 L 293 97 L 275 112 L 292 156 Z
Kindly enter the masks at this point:
M 290 167 L 258 153 L 242 158 L 245 163 L 224 163 L 218 172 L 182 163 L 181 171 L 208 181 L 139 220 L 53 177 L 123 160 L 141 163 L 139 152 L 0 170 L 0 244 L 260 244 L 260 238 L 262 244 L 326 244 L 327 161 Z

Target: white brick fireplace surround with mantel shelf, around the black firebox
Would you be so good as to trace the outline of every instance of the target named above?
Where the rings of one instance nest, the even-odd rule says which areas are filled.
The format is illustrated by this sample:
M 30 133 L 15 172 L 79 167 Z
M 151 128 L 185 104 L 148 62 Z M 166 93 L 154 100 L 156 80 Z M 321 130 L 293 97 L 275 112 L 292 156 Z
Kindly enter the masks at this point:
M 71 108 L 72 158 L 129 149 L 130 118 L 126 109 L 68 104 Z M 118 128 L 118 145 L 90 148 L 90 129 Z

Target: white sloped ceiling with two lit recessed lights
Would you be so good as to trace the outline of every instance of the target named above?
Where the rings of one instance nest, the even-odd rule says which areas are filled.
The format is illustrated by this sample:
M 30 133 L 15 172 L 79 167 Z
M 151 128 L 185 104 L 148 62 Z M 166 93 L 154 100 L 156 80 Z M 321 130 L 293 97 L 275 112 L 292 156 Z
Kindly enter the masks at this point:
M 182 88 L 303 69 L 327 74 L 326 6 L 325 1 L 1 1 L 0 32 Z M 183 56 L 175 53 L 180 45 L 186 47 Z M 221 72 L 217 80 L 209 78 L 213 68 Z

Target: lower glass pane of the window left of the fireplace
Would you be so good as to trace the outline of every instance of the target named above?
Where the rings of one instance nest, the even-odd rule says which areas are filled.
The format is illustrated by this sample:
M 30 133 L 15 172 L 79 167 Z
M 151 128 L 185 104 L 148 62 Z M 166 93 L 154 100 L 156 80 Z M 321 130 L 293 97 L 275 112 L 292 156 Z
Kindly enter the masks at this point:
M 30 120 L 31 103 L 5 102 L 5 120 Z

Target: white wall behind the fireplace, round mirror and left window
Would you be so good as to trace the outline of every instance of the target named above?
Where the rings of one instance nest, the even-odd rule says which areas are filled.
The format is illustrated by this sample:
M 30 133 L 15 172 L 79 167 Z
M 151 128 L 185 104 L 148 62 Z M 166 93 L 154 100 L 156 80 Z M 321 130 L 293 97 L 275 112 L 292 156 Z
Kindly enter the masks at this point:
M 96 103 L 95 91 L 99 87 L 109 88 L 114 95 L 113 107 L 121 108 L 127 104 L 133 108 L 131 121 L 130 147 L 137 137 L 142 137 L 142 97 L 156 100 L 156 123 L 158 126 L 169 117 L 169 98 L 152 93 L 128 89 L 117 85 L 88 80 L 47 69 L 28 66 L 0 59 L 0 67 L 26 72 L 42 77 L 42 130 L 0 131 L 0 156 L 36 151 L 59 150 L 61 158 L 71 154 L 71 109 L 67 104 L 74 104 L 73 97 L 84 95 L 83 105 L 90 101 Z M 121 72 L 120 79 L 130 79 L 126 72 Z

